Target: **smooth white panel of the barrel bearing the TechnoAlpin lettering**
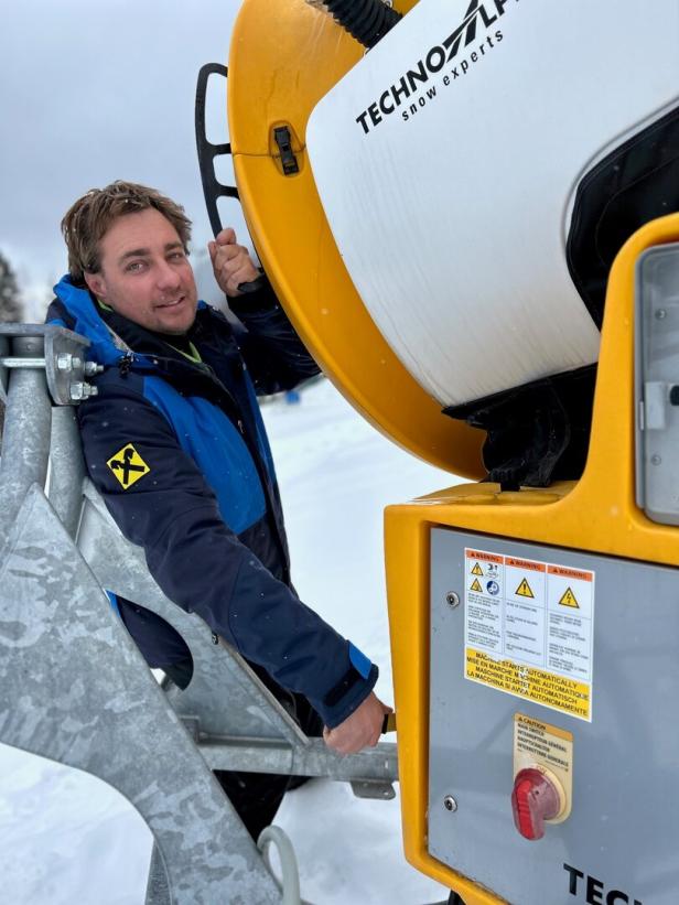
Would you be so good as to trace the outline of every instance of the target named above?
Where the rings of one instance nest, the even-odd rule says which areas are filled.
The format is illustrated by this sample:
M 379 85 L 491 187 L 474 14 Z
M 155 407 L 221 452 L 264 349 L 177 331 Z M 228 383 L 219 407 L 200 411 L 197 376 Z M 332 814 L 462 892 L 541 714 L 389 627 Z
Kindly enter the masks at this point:
M 442 405 L 596 360 L 565 261 L 572 196 L 676 106 L 678 39 L 678 0 L 421 0 L 313 111 L 347 269 Z

